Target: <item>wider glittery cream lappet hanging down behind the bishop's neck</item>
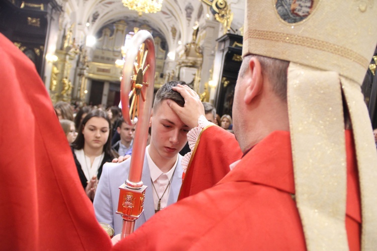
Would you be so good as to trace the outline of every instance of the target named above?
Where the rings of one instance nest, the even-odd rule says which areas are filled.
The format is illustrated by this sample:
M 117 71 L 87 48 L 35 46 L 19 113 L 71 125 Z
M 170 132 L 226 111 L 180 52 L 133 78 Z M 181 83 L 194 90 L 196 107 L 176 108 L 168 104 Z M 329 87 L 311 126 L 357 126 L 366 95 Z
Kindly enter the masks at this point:
M 308 250 L 347 250 L 347 166 L 337 72 L 288 68 L 296 203 Z

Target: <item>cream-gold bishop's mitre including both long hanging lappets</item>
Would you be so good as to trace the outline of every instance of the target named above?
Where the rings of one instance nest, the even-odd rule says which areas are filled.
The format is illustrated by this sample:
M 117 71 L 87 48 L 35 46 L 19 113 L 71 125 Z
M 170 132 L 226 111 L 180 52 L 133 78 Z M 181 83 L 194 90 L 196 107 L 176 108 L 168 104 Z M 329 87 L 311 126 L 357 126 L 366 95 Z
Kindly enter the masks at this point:
M 242 55 L 291 62 L 287 96 L 296 201 L 309 250 L 348 249 L 343 107 L 355 142 L 361 245 L 377 246 L 377 154 L 360 89 L 377 43 L 375 24 L 377 0 L 246 1 Z

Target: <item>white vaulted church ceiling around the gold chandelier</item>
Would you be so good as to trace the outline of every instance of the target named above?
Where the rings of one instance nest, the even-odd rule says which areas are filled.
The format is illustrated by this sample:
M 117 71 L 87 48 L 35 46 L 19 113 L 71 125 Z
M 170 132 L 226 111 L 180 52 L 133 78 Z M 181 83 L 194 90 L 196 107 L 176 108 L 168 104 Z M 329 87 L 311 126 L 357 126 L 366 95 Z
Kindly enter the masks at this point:
M 178 46 L 178 40 L 182 44 L 191 42 L 193 26 L 195 22 L 206 19 L 206 14 L 214 20 L 209 7 L 200 0 L 163 0 L 161 12 L 155 14 L 143 14 L 138 17 L 135 11 L 124 7 L 121 0 L 72 0 L 72 20 L 85 28 L 86 35 L 95 35 L 102 27 L 118 20 L 134 19 L 138 23 L 145 22 L 161 33 L 167 42 L 169 50 Z M 228 0 L 231 11 L 234 13 L 232 29 L 238 30 L 243 25 L 245 0 Z M 174 36 L 174 29 L 176 30 Z

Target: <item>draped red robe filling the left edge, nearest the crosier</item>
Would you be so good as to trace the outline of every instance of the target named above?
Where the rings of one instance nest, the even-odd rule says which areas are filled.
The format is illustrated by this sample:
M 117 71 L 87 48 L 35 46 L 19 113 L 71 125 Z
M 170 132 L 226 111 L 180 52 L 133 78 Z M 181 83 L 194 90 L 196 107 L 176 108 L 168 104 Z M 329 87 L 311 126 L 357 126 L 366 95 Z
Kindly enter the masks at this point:
M 2 250 L 109 250 L 34 64 L 0 34 Z

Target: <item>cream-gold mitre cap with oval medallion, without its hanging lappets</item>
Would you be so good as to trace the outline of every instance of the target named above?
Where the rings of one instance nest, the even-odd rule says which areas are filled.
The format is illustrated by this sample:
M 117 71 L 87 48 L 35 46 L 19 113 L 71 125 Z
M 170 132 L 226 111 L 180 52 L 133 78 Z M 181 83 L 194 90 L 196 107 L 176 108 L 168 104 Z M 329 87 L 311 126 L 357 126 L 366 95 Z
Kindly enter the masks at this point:
M 375 0 L 249 0 L 242 55 L 335 71 L 360 83 L 375 49 L 375 24 Z

